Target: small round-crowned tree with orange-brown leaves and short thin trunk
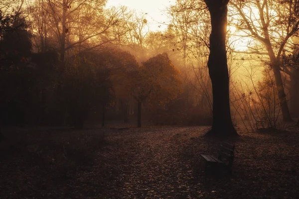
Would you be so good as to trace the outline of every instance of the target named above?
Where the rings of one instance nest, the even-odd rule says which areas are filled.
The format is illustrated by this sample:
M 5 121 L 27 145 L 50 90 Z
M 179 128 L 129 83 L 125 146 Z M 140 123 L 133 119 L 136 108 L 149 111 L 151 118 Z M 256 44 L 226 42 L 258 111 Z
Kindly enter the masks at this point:
M 131 93 L 138 102 L 138 127 L 141 127 L 142 103 L 165 103 L 180 93 L 181 80 L 166 53 L 144 62 L 135 72 Z

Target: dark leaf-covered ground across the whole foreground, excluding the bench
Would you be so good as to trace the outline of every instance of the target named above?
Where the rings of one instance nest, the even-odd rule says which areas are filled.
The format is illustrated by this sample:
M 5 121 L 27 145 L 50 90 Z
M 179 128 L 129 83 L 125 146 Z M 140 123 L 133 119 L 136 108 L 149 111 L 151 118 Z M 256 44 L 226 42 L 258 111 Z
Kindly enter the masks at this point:
M 233 176 L 201 169 L 217 154 L 209 127 L 129 130 L 9 128 L 0 143 L 1 199 L 298 199 L 299 128 L 239 130 Z

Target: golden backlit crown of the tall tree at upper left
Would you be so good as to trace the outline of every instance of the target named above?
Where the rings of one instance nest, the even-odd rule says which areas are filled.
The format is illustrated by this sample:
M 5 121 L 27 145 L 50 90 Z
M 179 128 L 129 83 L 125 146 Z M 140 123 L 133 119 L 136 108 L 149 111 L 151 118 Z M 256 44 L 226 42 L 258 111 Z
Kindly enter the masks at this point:
M 106 0 L 36 0 L 29 7 L 28 18 L 32 32 L 41 51 L 47 41 L 55 41 L 54 47 L 64 65 L 65 57 L 73 55 L 71 49 L 91 50 L 102 47 L 116 38 L 110 34 L 121 12 L 106 9 Z M 55 39 L 54 39 L 55 38 Z

